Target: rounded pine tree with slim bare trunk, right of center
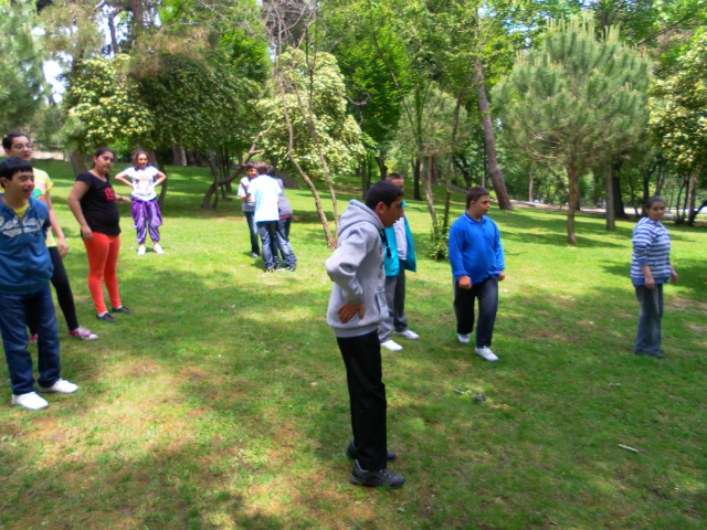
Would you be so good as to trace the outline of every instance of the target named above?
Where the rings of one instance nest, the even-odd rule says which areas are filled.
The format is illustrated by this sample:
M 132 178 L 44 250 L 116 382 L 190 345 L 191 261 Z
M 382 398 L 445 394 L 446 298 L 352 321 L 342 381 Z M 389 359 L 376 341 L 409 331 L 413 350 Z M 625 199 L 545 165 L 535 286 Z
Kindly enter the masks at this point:
M 505 131 L 536 161 L 567 171 L 569 243 L 577 243 L 579 176 L 635 144 L 650 67 L 615 29 L 597 40 L 592 22 L 562 20 L 494 88 Z

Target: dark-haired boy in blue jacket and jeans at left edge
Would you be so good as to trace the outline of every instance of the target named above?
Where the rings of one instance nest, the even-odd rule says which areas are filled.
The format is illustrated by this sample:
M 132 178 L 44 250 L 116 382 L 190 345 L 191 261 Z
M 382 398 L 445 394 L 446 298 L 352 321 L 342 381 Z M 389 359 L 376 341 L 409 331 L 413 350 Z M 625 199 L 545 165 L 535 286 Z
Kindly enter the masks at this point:
M 51 227 L 46 205 L 32 199 L 32 166 L 20 158 L 0 163 L 0 333 L 10 371 L 12 404 L 46 409 L 34 392 L 28 346 L 28 315 L 39 329 L 39 391 L 72 394 L 78 386 L 59 377 L 59 331 L 49 280 L 54 266 L 44 237 Z

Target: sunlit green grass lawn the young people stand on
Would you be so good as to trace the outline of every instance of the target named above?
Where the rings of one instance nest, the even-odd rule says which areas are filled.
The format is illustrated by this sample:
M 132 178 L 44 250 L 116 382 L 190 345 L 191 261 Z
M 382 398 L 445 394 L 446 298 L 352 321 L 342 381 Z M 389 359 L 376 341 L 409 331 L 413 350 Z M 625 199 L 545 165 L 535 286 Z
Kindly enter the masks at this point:
M 507 266 L 497 364 L 456 341 L 449 264 L 419 259 L 407 308 L 421 339 L 383 354 L 391 467 L 407 480 L 388 491 L 348 484 L 330 251 L 308 191 L 287 192 L 297 272 L 265 275 L 240 201 L 202 211 L 205 171 L 171 168 L 163 256 L 136 256 L 120 206 L 120 295 L 135 315 L 112 325 L 94 318 L 70 166 L 38 167 L 55 180 L 80 321 L 101 339 L 70 339 L 57 308 L 62 375 L 81 389 L 46 411 L 12 407 L 0 367 L 0 528 L 707 527 L 705 229 L 667 225 L 680 282 L 665 290 L 663 361 L 632 352 L 631 223 L 606 233 L 580 216 L 570 246 L 564 214 L 492 210 Z M 422 256 L 426 208 L 409 201 L 407 214 Z

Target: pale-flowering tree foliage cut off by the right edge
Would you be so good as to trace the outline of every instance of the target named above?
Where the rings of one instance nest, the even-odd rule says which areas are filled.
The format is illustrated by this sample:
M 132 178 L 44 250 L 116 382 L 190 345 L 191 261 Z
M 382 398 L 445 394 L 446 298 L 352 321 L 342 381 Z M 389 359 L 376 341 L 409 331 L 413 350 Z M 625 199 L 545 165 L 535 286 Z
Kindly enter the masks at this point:
M 695 36 L 677 65 L 651 87 L 650 129 L 668 162 L 692 174 L 707 161 L 707 32 Z

